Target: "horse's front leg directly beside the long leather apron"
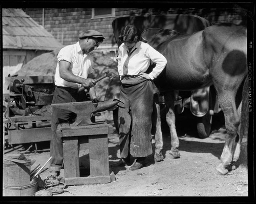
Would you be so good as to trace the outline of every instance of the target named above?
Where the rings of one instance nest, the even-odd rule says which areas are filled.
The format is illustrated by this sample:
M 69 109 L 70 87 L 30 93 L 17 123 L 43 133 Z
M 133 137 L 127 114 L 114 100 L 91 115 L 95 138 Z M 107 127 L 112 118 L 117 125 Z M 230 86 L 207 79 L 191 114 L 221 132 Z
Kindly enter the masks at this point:
M 155 104 L 155 110 L 156 110 L 156 115 L 155 120 L 156 120 L 156 133 L 155 133 L 155 155 L 154 159 L 155 162 L 161 162 L 163 161 L 163 154 L 162 154 L 162 149 L 163 149 L 163 135 L 162 135 L 162 129 L 161 129 L 161 115 L 160 115 L 160 105 Z

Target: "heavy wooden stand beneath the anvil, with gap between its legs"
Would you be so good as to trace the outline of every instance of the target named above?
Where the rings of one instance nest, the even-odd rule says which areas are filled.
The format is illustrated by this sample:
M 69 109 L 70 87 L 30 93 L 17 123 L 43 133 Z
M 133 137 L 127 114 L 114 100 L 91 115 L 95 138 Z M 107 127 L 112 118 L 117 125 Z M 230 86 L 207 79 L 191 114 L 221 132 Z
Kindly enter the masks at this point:
M 62 138 L 66 185 L 103 184 L 111 182 L 108 134 L 112 125 L 101 123 L 70 127 L 60 124 L 57 137 Z M 89 149 L 90 176 L 80 177 L 79 149 Z

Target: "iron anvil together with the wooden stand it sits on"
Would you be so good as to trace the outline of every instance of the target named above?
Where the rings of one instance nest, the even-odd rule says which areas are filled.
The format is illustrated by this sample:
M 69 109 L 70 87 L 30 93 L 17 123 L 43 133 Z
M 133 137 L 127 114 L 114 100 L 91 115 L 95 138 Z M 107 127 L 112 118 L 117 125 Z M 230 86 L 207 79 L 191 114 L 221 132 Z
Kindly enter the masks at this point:
M 52 107 L 75 112 L 73 124 L 60 124 L 57 137 L 63 140 L 63 163 L 66 185 L 102 184 L 115 179 L 110 174 L 108 134 L 113 133 L 113 126 L 105 122 L 92 123 L 93 112 L 114 107 L 120 100 L 112 102 L 91 101 L 52 104 Z M 80 177 L 79 149 L 89 149 L 90 176 Z

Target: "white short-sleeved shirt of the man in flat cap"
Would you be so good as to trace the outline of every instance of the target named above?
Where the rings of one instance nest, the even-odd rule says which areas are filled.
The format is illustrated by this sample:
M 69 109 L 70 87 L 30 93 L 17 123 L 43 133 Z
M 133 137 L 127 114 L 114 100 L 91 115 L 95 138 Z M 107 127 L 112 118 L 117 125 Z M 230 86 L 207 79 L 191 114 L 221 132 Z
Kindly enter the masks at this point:
M 55 85 L 71 88 L 80 88 L 82 85 L 78 83 L 68 82 L 59 76 L 59 61 L 65 60 L 70 63 L 69 70 L 78 77 L 87 79 L 88 75 L 93 73 L 93 56 L 82 54 L 79 42 L 62 48 L 57 56 L 57 66 L 55 72 Z

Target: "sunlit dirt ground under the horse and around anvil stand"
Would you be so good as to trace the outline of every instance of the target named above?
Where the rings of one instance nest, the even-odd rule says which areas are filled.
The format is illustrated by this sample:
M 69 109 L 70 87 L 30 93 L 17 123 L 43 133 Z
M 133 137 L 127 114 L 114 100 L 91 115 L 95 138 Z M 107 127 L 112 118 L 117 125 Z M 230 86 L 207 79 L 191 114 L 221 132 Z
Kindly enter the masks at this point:
M 102 113 L 104 115 L 104 112 Z M 106 114 L 107 115 L 107 114 Z M 102 116 L 101 116 L 102 117 Z M 111 116 L 108 116 L 111 118 Z M 96 121 L 100 120 L 96 117 Z M 230 197 L 248 196 L 248 173 L 245 166 L 222 176 L 215 167 L 220 162 L 224 147 L 225 133 L 220 118 L 214 117 L 213 131 L 209 138 L 197 138 L 196 126 L 193 120 L 187 117 L 177 117 L 177 132 L 180 141 L 181 157 L 172 160 L 169 156 L 170 135 L 163 127 L 163 154 L 164 161 L 155 163 L 153 155 L 146 159 L 146 166 L 136 171 L 130 171 L 129 166 L 110 169 L 115 174 L 116 180 L 107 184 L 67 186 L 65 192 L 53 194 L 57 196 L 183 196 L 183 197 Z M 108 121 L 113 124 L 111 119 Z M 114 124 L 113 124 L 114 126 Z M 109 163 L 117 162 L 120 158 L 118 134 L 114 129 L 109 134 Z M 154 149 L 154 138 L 152 146 Z M 50 157 L 50 143 L 42 142 L 35 148 L 25 153 L 27 158 L 36 160 L 32 168 L 38 164 L 44 165 Z M 6 149 L 5 153 L 17 153 L 26 150 L 25 145 Z M 89 154 L 80 151 L 80 166 L 88 164 Z M 47 165 L 49 167 L 49 164 Z M 60 177 L 63 177 L 61 169 Z M 45 179 L 47 171 L 40 174 Z M 5 191 L 3 190 L 3 195 Z M 146 198 L 145 198 L 146 199 Z M 163 200 L 165 200 L 164 198 Z M 168 199 L 168 201 L 170 201 Z

